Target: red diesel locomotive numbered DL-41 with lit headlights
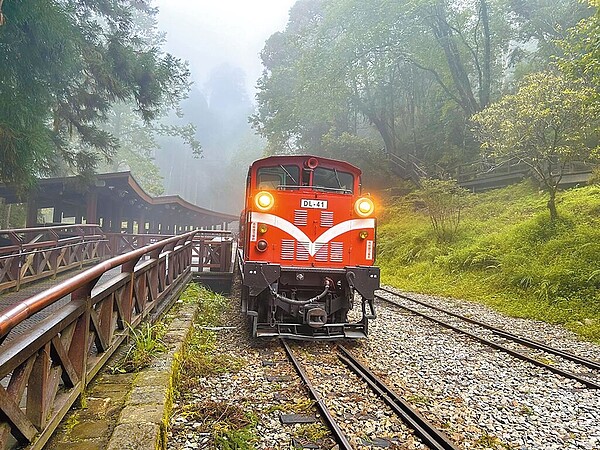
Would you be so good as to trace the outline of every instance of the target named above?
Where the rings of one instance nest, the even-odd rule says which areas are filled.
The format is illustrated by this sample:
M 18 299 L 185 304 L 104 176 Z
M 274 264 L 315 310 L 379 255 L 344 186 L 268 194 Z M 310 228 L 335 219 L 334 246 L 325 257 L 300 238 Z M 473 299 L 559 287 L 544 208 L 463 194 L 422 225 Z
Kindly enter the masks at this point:
M 366 337 L 379 268 L 375 206 L 360 194 L 360 175 L 314 156 L 250 166 L 240 249 L 242 311 L 254 336 Z

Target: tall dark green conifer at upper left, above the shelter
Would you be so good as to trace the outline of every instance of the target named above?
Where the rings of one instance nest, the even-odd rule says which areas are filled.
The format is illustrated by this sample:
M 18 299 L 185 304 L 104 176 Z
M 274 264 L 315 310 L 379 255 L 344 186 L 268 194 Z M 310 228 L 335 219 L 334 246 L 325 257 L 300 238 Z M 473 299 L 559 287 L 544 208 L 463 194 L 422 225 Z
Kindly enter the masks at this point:
M 185 64 L 136 32 L 146 0 L 23 0 L 0 27 L 0 181 L 21 186 L 61 166 L 93 171 L 117 147 L 99 126 L 115 102 L 149 122 L 185 95 Z

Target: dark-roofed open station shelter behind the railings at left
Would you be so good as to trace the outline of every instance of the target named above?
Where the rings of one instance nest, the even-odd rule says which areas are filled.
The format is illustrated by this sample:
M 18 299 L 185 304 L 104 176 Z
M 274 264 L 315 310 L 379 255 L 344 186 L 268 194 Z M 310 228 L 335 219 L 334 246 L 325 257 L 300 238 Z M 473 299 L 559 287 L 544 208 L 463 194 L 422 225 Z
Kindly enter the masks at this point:
M 27 203 L 26 227 L 96 223 L 106 233 L 179 234 L 228 230 L 238 217 L 196 206 L 178 195 L 152 197 L 130 172 L 43 178 L 25 197 L 0 184 L 5 203 Z

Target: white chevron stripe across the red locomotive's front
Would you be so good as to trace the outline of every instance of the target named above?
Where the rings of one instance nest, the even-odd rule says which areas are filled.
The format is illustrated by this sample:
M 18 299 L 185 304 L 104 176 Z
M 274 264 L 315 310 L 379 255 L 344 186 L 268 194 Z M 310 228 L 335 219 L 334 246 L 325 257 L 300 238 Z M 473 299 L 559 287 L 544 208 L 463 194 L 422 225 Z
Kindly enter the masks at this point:
M 304 232 L 299 229 L 296 225 L 287 220 L 278 217 L 274 214 L 252 212 L 250 216 L 251 222 L 260 222 L 266 225 L 271 225 L 275 228 L 279 228 L 281 231 L 286 232 L 292 236 L 299 243 L 308 242 L 308 248 L 306 249 L 310 256 L 315 256 L 317 253 L 316 244 L 327 244 L 332 239 L 335 239 L 341 234 L 344 234 L 351 230 L 358 230 L 364 228 L 375 228 L 375 219 L 351 219 L 345 222 L 338 223 L 334 227 L 329 228 L 321 236 L 319 236 L 315 242 L 312 242 Z M 305 244 L 303 244 L 306 247 Z M 320 247 L 320 246 L 319 246 Z

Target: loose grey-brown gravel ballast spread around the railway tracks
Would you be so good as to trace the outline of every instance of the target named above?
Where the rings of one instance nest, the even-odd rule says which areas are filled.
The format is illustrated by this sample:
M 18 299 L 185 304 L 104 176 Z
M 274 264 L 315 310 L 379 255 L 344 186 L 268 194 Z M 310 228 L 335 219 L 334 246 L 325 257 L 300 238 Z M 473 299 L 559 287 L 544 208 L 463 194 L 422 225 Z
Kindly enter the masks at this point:
M 470 302 L 411 295 L 589 359 L 597 360 L 600 355 L 600 347 L 579 341 L 560 326 L 505 317 Z M 237 304 L 237 300 L 233 299 L 232 303 Z M 574 380 L 392 306 L 378 303 L 377 312 L 378 318 L 370 322 L 368 339 L 352 345 L 353 352 L 430 422 L 445 431 L 459 448 L 600 450 L 600 392 L 597 390 L 586 389 Z M 192 398 L 198 403 L 220 402 L 252 411 L 257 420 L 255 448 L 293 448 L 293 444 L 300 442 L 303 428 L 282 425 L 280 414 L 297 412 L 293 411 L 293 405 L 307 404 L 308 396 L 279 344 L 250 339 L 245 320 L 239 314 L 234 316 L 228 325 L 235 329 L 215 333 L 219 351 L 239 358 L 241 368 L 233 373 L 203 378 L 199 384 L 202 388 L 191 393 L 186 401 Z M 304 346 L 308 353 L 333 348 L 327 343 Z M 323 361 L 326 363 L 325 357 Z M 348 377 L 335 372 L 330 373 L 330 385 L 337 383 L 336 376 Z M 340 379 L 340 386 L 346 382 Z M 369 395 L 364 393 L 365 398 Z M 334 412 L 339 408 L 342 415 L 343 411 L 347 414 L 348 407 L 344 404 L 347 399 L 339 392 L 339 386 L 332 386 L 326 396 Z M 181 411 L 183 405 L 174 406 L 176 411 Z M 372 425 L 376 434 L 385 437 L 393 431 L 407 437 L 404 443 L 392 439 L 396 444 L 393 448 L 423 448 L 403 426 L 395 424 L 395 419 L 382 416 L 388 425 L 381 431 L 377 412 L 369 412 L 369 415 L 375 418 Z M 168 448 L 214 448 L 209 432 L 202 430 L 200 420 L 188 420 L 184 414 L 175 414 L 171 419 Z M 334 448 L 327 438 L 320 446 Z M 377 445 L 365 444 L 364 447 L 377 448 Z

